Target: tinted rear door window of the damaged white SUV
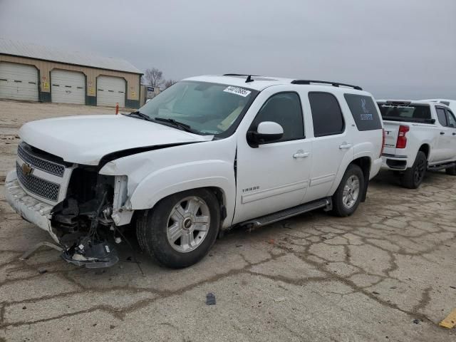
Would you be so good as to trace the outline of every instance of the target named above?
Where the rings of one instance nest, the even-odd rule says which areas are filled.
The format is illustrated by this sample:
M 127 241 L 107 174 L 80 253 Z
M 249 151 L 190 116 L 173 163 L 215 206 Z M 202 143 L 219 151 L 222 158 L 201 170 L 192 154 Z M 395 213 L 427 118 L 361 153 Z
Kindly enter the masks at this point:
M 333 135 L 343 132 L 344 123 L 341 107 L 333 94 L 309 93 L 314 135 Z

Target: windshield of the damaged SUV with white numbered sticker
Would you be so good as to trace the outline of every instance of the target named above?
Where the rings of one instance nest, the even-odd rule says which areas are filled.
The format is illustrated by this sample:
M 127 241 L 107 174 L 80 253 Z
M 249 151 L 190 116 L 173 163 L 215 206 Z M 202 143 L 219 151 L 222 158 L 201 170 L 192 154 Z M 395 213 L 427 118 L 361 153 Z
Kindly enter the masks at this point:
M 239 123 L 255 95 L 257 91 L 248 88 L 181 81 L 152 98 L 140 112 L 153 120 L 184 123 L 200 134 L 219 135 Z

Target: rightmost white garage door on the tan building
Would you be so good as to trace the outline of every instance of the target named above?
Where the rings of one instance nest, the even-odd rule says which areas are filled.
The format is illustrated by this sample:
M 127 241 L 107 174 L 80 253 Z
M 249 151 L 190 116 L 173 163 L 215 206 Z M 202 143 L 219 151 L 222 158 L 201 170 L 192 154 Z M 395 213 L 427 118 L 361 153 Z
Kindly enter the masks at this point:
M 125 80 L 120 77 L 98 76 L 97 105 L 125 107 Z

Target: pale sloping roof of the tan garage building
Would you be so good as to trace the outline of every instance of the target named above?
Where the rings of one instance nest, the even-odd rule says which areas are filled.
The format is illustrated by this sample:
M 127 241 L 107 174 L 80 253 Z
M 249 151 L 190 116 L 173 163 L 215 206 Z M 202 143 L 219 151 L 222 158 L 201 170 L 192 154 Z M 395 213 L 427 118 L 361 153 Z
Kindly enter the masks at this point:
M 0 54 L 36 58 L 44 61 L 88 66 L 91 68 L 108 69 L 113 71 L 125 71 L 128 73 L 142 73 L 130 62 L 120 58 L 111 58 L 95 55 L 88 52 L 64 51 L 58 48 L 40 46 L 21 41 L 11 41 L 0 38 Z

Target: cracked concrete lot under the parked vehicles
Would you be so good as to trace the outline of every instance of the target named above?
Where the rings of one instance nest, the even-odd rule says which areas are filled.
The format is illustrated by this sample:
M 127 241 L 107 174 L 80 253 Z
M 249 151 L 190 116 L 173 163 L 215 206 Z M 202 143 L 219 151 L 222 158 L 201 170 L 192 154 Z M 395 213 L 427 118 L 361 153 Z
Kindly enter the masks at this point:
M 20 123 L 100 111 L 0 102 L 1 185 Z M 456 177 L 442 172 L 428 173 L 419 190 L 382 172 L 352 217 L 311 212 L 237 229 L 187 269 L 139 255 L 144 276 L 126 246 L 103 271 L 46 248 L 19 261 L 51 239 L 1 193 L 1 342 L 456 341 L 438 326 L 456 307 Z M 204 303 L 208 292 L 216 305 Z

